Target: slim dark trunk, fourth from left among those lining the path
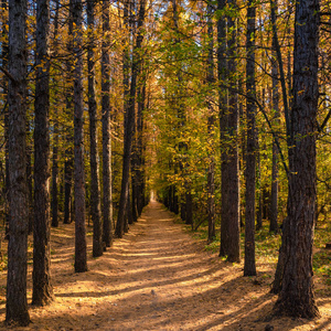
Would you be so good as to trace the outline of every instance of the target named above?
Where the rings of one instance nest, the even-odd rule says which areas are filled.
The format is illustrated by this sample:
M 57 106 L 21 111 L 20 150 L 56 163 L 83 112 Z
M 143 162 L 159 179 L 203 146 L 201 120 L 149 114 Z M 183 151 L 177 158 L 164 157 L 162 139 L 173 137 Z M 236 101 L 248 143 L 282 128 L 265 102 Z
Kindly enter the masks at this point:
M 98 173 L 97 149 L 97 105 L 95 99 L 95 55 L 94 55 L 94 29 L 95 4 L 87 1 L 87 28 L 88 28 L 88 114 L 89 114 L 89 164 L 90 164 L 90 216 L 93 222 L 93 256 L 103 255 L 103 227 L 100 217 L 100 193 Z

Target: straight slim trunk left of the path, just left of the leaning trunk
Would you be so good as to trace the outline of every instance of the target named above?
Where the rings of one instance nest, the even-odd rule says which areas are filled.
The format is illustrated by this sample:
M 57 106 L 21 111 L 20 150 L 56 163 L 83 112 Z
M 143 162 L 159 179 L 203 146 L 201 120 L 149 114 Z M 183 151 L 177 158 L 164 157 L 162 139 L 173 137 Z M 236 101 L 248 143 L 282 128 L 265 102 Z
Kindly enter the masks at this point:
M 102 108 L 103 108 L 103 242 L 113 244 L 113 196 L 111 196 L 111 128 L 110 128 L 110 70 L 109 70 L 109 0 L 103 1 L 103 58 L 102 58 Z

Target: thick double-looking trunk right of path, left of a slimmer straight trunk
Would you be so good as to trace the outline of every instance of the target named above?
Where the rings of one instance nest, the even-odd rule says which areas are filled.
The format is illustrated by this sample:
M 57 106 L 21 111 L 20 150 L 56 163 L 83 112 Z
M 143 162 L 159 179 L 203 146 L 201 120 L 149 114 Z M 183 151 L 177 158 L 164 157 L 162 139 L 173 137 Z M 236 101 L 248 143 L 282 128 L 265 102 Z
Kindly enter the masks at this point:
M 229 1 L 232 8 L 236 7 L 235 1 Z M 224 8 L 225 3 L 218 1 L 218 8 Z M 238 178 L 238 100 L 236 90 L 236 26 L 235 18 L 227 17 L 227 65 L 225 67 L 225 22 L 222 18 L 218 21 L 218 79 L 224 84 L 227 76 L 228 100 L 227 108 L 220 105 L 221 113 L 221 140 L 222 140 L 222 211 L 221 211 L 221 249 L 220 256 L 227 256 L 228 261 L 237 263 L 241 260 L 239 247 L 239 178 Z M 221 61 L 221 63 L 220 63 Z M 223 102 L 225 92 L 221 92 Z M 226 104 L 225 104 L 226 105 Z

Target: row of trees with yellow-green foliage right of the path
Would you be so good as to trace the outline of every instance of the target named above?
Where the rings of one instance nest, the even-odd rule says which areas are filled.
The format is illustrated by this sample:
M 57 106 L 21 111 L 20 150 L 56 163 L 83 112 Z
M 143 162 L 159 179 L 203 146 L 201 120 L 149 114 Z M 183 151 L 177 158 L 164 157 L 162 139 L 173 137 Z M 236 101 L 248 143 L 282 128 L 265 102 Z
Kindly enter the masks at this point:
M 179 3 L 160 19 L 159 196 L 192 228 L 207 221 L 209 242 L 218 214 L 228 261 L 241 260 L 245 225 L 244 276 L 256 275 L 255 228 L 269 218 L 277 233 L 282 218 L 274 312 L 313 318 L 313 228 L 330 178 L 330 154 L 317 169 L 316 149 L 330 138 L 329 4 Z

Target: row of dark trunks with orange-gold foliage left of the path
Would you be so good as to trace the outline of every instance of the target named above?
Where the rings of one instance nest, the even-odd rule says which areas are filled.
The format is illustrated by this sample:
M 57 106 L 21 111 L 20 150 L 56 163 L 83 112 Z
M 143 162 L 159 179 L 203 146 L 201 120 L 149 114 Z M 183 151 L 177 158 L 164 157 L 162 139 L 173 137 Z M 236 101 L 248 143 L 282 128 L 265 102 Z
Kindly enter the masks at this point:
M 93 256 L 98 257 L 111 246 L 114 229 L 121 237 L 148 201 L 143 171 L 147 73 L 140 52 L 146 2 L 139 2 L 137 15 L 134 6 L 138 4 L 22 0 L 9 1 L 8 10 L 2 1 L 3 31 L 9 26 L 1 41 L 8 150 L 2 196 L 9 238 L 7 322 L 30 322 L 26 253 L 32 228 L 32 303 L 44 306 L 53 300 L 51 225 L 58 226 L 61 216 L 64 223 L 75 221 L 74 268 L 84 273 L 87 215 L 93 222 Z M 33 147 L 26 146 L 30 142 Z M 116 228 L 113 205 L 118 206 Z

